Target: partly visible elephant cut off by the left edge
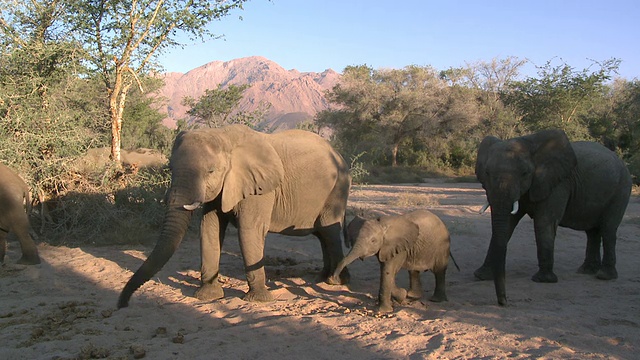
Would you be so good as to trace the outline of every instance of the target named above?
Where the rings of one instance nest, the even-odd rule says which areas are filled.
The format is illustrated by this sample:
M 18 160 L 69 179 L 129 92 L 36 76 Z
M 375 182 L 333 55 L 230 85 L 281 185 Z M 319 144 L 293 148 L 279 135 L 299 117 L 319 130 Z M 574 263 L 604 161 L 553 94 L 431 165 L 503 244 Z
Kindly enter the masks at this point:
M 18 264 L 40 264 L 38 248 L 31 238 L 29 216 L 25 212 L 30 206 L 27 184 L 4 164 L 0 164 L 0 262 L 4 263 L 7 251 L 7 234 L 16 234 L 20 242 L 22 257 Z

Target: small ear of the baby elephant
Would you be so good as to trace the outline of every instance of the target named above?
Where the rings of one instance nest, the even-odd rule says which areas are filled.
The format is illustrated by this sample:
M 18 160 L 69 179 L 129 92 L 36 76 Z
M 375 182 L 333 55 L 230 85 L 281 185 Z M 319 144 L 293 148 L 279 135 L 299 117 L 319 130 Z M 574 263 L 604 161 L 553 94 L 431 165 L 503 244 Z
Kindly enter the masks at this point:
M 385 262 L 401 252 L 409 251 L 415 244 L 420 229 L 415 223 L 401 216 L 385 216 L 378 221 L 384 230 L 382 247 L 378 259 Z

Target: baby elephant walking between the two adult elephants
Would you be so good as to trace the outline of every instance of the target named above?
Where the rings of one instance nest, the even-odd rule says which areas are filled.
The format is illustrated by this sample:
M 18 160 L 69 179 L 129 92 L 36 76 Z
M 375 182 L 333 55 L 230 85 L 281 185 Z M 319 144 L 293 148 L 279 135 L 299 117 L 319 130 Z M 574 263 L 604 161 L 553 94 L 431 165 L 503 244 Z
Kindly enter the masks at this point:
M 420 271 L 431 270 L 436 288 L 431 301 L 446 301 L 445 273 L 449 263 L 449 231 L 442 221 L 427 210 L 401 216 L 382 216 L 375 220 L 353 219 L 347 228 L 347 242 L 353 248 L 338 264 L 330 284 L 340 284 L 337 274 L 357 258 L 378 255 L 380 261 L 379 312 L 392 312 L 391 297 L 402 303 L 407 295 L 422 295 Z M 396 286 L 400 268 L 409 270 L 409 292 Z

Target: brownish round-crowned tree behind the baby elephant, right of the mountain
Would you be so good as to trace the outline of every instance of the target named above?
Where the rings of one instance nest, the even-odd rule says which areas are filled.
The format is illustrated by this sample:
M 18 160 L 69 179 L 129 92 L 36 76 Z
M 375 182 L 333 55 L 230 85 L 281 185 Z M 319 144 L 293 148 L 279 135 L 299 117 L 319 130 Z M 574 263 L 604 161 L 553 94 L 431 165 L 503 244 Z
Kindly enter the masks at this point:
M 350 136 L 373 135 L 389 147 L 391 165 L 397 166 L 403 141 L 438 127 L 449 100 L 448 90 L 435 69 L 428 66 L 381 70 L 349 66 L 328 94 L 339 110 L 321 113 L 318 121 L 343 134 L 356 132 Z

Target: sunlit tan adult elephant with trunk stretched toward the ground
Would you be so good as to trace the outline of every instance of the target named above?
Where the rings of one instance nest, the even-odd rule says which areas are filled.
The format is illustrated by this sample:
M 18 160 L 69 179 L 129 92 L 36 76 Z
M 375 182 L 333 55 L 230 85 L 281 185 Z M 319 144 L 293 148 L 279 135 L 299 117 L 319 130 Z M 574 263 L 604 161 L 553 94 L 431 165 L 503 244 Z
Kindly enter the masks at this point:
M 167 212 L 156 246 L 125 285 L 118 308 L 156 274 L 182 241 L 192 212 L 202 206 L 201 286 L 195 296 L 224 296 L 218 282 L 220 248 L 229 223 L 238 228 L 248 301 L 273 299 L 265 285 L 267 232 L 320 239 L 329 277 L 342 260 L 342 231 L 351 180 L 344 159 L 316 134 L 263 134 L 243 125 L 182 132 L 170 159 Z M 342 273 L 348 281 L 348 272 Z

